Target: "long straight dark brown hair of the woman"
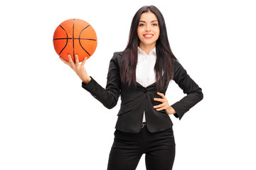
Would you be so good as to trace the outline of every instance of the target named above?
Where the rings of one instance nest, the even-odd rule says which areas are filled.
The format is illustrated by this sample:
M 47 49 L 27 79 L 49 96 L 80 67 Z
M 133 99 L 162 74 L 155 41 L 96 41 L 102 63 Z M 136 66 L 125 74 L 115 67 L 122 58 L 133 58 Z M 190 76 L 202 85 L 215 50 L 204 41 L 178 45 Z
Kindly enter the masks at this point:
M 123 83 L 127 83 L 129 86 L 131 84 L 135 86 L 138 46 L 140 41 L 137 34 L 137 28 L 142 13 L 148 11 L 156 15 L 161 34 L 159 39 L 156 40 L 156 64 L 154 66 L 154 71 L 156 73 L 156 88 L 161 90 L 164 88 L 164 84 L 169 83 L 174 76 L 171 58 L 176 59 L 176 57 L 173 52 L 171 52 L 164 16 L 156 6 L 143 6 L 142 8 L 139 8 L 137 13 L 135 13 L 129 32 L 129 41 L 121 59 L 120 77 Z

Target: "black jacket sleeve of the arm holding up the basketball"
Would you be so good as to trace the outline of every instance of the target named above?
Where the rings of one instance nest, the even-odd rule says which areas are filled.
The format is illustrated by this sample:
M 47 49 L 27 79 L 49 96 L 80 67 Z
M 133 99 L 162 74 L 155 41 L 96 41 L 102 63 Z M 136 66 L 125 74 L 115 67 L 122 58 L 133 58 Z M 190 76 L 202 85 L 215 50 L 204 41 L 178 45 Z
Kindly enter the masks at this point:
M 89 91 L 98 101 L 100 101 L 106 108 L 114 108 L 120 95 L 121 79 L 119 74 L 119 64 L 117 62 L 118 53 L 115 52 L 110 60 L 110 67 L 107 73 L 106 89 L 102 88 L 100 84 L 91 79 L 88 84 L 82 82 L 82 88 Z M 91 77 L 92 78 L 92 77 Z

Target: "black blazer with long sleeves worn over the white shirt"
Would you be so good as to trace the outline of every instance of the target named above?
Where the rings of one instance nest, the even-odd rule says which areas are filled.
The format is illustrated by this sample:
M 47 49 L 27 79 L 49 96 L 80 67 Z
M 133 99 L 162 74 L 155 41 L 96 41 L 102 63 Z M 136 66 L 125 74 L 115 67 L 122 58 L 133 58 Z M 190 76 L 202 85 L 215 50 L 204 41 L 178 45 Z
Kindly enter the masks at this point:
M 171 128 L 173 123 L 166 111 L 156 111 L 153 106 L 159 105 L 159 101 L 154 98 L 161 98 L 156 94 L 156 84 L 151 84 L 146 88 L 137 83 L 137 87 L 127 86 L 120 79 L 119 65 L 122 52 L 114 52 L 114 56 L 110 60 L 110 67 L 107 74 L 106 89 L 92 79 L 88 84 L 82 83 L 82 88 L 92 94 L 105 107 L 113 108 L 117 105 L 119 95 L 121 95 L 121 107 L 119 110 L 116 129 L 123 132 L 137 133 L 142 125 L 143 113 L 145 111 L 146 126 L 149 132 L 159 132 Z M 183 69 L 177 60 L 172 60 L 174 67 L 174 81 L 183 89 L 183 93 L 187 96 L 183 97 L 172 105 L 176 111 L 176 118 L 181 119 L 184 113 L 192 108 L 196 103 L 203 99 L 201 88 L 188 76 L 186 70 Z M 169 83 L 166 84 L 162 91 L 166 93 Z

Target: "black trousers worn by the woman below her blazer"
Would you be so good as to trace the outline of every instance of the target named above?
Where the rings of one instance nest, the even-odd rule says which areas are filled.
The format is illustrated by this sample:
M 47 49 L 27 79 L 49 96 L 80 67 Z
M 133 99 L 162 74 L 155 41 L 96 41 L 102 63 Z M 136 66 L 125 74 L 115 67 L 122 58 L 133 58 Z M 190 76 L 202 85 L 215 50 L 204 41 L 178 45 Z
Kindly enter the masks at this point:
M 134 170 L 145 155 L 147 170 L 171 170 L 175 157 L 172 128 L 151 133 L 146 127 L 138 134 L 115 130 L 107 170 Z

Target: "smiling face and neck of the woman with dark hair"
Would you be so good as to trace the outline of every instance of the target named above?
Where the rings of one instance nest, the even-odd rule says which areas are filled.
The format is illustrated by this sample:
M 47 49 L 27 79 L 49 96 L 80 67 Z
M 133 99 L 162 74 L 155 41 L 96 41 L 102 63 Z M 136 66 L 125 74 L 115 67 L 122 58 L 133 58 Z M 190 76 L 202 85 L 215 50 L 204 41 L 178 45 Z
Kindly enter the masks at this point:
M 156 15 L 152 12 L 142 13 L 137 29 L 139 47 L 155 47 L 159 38 L 160 28 Z

